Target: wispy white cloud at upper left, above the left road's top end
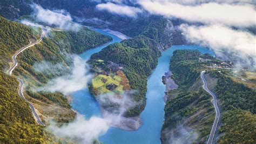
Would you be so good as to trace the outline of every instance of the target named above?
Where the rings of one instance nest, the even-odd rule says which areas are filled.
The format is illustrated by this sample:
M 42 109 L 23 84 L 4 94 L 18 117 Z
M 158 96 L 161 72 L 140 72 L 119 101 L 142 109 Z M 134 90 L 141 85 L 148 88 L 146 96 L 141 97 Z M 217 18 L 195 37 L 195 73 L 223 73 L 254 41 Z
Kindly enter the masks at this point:
M 34 10 L 33 15 L 38 22 L 43 22 L 48 25 L 56 25 L 64 30 L 77 31 L 79 28 L 78 24 L 72 22 L 70 14 L 64 10 L 51 11 L 42 8 L 42 6 L 37 4 L 32 4 L 31 7 Z

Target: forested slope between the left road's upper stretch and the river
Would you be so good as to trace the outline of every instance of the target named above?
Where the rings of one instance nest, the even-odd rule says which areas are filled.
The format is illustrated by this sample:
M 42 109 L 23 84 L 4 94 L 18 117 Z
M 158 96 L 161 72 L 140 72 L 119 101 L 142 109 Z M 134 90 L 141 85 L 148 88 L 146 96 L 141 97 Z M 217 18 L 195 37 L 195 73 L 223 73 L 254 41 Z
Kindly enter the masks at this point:
M 21 61 L 21 67 L 35 76 L 42 83 L 46 83 L 48 79 L 62 75 L 68 70 L 60 71 L 58 74 L 51 72 L 41 73 L 35 71 L 33 64 L 44 60 L 49 61 L 52 64 L 70 66 L 72 61 L 65 53 L 81 53 L 111 40 L 111 37 L 100 35 L 100 33 L 88 28 L 82 28 L 78 32 L 51 31 L 49 35 L 49 37 L 43 38 L 43 43 L 24 51 L 18 57 L 18 60 Z

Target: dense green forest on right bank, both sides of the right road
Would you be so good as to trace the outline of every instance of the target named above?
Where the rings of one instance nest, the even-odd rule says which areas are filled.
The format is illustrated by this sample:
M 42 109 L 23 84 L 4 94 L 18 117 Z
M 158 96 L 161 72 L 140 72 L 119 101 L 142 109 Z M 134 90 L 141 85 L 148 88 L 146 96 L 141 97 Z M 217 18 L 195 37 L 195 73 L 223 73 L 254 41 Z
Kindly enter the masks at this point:
M 200 61 L 199 58 L 207 60 Z M 191 133 L 196 131 L 199 134 L 194 142 L 207 141 L 215 111 L 210 101 L 211 96 L 201 88 L 203 83 L 199 76 L 203 70 L 207 70 L 208 87 L 219 99 L 221 118 L 218 143 L 255 142 L 255 90 L 235 83 L 231 79 L 232 74 L 228 74 L 230 72 L 225 72 L 224 69 L 222 71 L 226 75 L 218 70 L 208 69 L 207 66 L 212 64 L 220 64 L 220 60 L 210 54 L 201 54 L 194 50 L 173 52 L 170 69 L 179 88 L 168 92 L 169 100 L 165 105 L 165 121 L 161 131 L 162 142 L 169 140 L 170 131 L 178 133 L 176 128 L 179 125 L 190 129 L 188 131 Z

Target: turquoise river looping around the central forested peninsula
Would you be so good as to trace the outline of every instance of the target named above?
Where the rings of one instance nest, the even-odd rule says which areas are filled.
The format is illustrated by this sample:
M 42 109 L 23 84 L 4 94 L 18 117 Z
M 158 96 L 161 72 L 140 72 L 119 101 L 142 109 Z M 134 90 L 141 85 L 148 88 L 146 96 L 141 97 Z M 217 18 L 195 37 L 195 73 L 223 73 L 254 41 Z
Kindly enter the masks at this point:
M 95 29 L 96 31 L 109 35 L 113 38 L 112 43 L 120 42 L 117 36 L 114 36 L 107 31 Z M 80 57 L 84 60 L 88 60 L 91 54 L 99 52 L 105 46 L 96 47 L 95 49 L 88 50 Z M 100 136 L 99 141 L 103 143 L 160 143 L 160 131 L 164 121 L 164 92 L 165 85 L 161 82 L 161 77 L 165 72 L 169 71 L 169 63 L 172 57 L 172 52 L 175 50 L 199 50 L 202 53 L 214 53 L 205 47 L 196 45 L 177 45 L 172 46 L 171 49 L 161 53 L 161 57 L 158 59 L 158 65 L 152 72 L 147 81 L 147 93 L 146 93 L 146 107 L 141 114 L 143 120 L 142 126 L 138 131 L 124 131 L 122 129 L 110 128 L 104 135 Z M 73 100 L 71 106 L 80 114 L 85 115 L 86 119 L 91 116 L 101 116 L 100 109 L 97 101 L 90 94 L 88 88 L 72 93 Z

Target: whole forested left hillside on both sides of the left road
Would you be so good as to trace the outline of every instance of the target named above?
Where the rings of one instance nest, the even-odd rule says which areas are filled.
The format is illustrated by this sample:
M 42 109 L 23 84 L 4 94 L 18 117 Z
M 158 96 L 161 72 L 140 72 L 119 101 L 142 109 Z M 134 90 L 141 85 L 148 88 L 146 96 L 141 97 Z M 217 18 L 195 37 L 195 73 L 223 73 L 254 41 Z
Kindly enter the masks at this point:
M 44 131 L 42 126 L 36 124 L 28 102 L 24 101 L 18 95 L 18 81 L 15 77 L 10 77 L 5 72 L 10 67 L 12 55 L 21 47 L 35 42 L 41 36 L 41 30 L 32 28 L 17 22 L 0 17 L 0 44 L 1 44 L 1 83 L 0 83 L 0 143 L 42 143 L 55 141 L 51 134 Z M 30 87 L 37 87 L 46 83 L 49 79 L 57 77 L 60 74 L 69 72 L 66 70 L 59 74 L 40 73 L 35 71 L 33 65 L 42 61 L 50 63 L 63 63 L 68 65 L 72 61 L 65 53 L 81 53 L 92 47 L 102 45 L 111 40 L 111 37 L 101 35 L 88 28 L 81 28 L 78 32 L 73 31 L 51 31 L 42 42 L 30 47 L 26 51 L 19 54 L 17 60 L 18 67 L 14 70 L 14 74 L 26 79 L 32 79 L 26 83 L 25 96 L 33 104 L 37 102 L 42 106 L 53 105 L 53 107 L 62 108 L 55 112 L 45 113 L 41 111 L 40 105 L 38 111 L 41 114 L 51 114 L 56 116 L 57 121 L 66 122 L 75 117 L 75 113 L 70 110 L 68 100 L 61 93 L 35 92 L 30 91 Z M 41 101 L 38 103 L 38 100 Z M 38 107 L 37 107 L 38 108 Z M 57 108 L 58 109 L 58 108 Z M 54 112 L 54 113 L 52 113 Z M 45 115 L 44 115 L 45 116 Z M 42 117 L 41 117 L 42 118 Z

